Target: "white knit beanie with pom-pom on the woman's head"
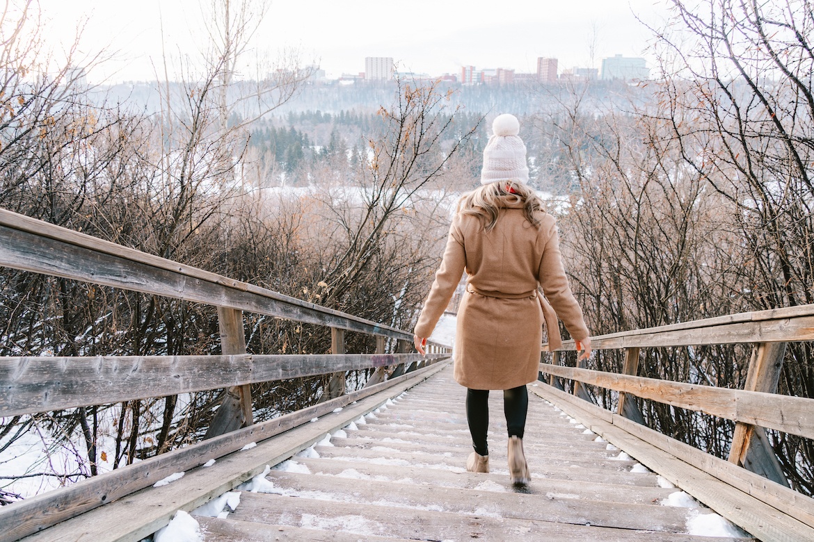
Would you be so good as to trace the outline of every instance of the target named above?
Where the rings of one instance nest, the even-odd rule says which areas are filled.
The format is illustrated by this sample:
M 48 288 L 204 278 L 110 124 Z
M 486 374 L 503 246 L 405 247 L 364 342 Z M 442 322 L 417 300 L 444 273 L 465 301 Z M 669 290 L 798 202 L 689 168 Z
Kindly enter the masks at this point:
M 480 184 L 497 180 L 516 180 L 528 183 L 526 145 L 517 135 L 520 123 L 514 115 L 498 115 L 492 122 L 492 137 L 484 149 L 484 168 L 480 170 Z

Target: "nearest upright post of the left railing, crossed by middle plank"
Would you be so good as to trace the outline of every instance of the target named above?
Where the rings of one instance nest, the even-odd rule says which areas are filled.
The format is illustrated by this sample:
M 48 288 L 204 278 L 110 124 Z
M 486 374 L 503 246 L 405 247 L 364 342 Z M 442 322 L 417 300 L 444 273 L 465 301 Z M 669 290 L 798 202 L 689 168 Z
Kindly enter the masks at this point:
M 230 307 L 217 307 L 217 326 L 221 332 L 221 353 L 225 356 L 246 353 L 246 332 L 243 329 L 243 311 Z M 221 406 L 212 417 L 204 439 L 223 435 L 252 425 L 252 391 L 249 384 L 232 386 L 226 390 Z

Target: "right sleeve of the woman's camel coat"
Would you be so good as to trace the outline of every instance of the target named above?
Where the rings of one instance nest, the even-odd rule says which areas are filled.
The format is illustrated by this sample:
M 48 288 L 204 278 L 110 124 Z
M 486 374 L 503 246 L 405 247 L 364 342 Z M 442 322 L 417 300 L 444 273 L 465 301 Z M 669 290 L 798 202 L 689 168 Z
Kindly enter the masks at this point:
M 566 329 L 571 333 L 574 340 L 583 340 L 590 335 L 588 327 L 582 316 L 580 304 L 576 301 L 571 288 L 568 286 L 568 278 L 565 269 L 562 267 L 562 254 L 559 250 L 559 237 L 557 235 L 557 224 L 554 219 L 550 224 L 541 225 L 545 228 L 547 241 L 543 247 L 543 254 L 540 257 L 540 268 L 537 280 L 543 288 L 545 297 L 554 307 L 559 319 L 565 324 Z

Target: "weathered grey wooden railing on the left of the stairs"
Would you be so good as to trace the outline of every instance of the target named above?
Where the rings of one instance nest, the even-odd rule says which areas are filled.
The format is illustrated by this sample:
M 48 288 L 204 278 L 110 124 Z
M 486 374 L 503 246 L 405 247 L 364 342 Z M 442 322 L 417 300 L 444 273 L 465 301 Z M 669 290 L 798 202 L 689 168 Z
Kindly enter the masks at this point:
M 147 488 L 367 397 L 389 385 L 386 379 L 449 358 L 449 347 L 436 343 L 428 345 L 426 356 L 408 353 L 411 332 L 8 210 L 0 210 L 0 266 L 217 306 L 221 333 L 221 355 L 0 358 L 0 417 L 228 388 L 206 440 L 4 506 L 0 540 L 17 540 Z M 243 311 L 328 326 L 332 353 L 247 353 Z M 346 331 L 376 336 L 376 353 L 346 353 Z M 385 353 L 387 339 L 397 341 L 395 353 Z M 346 371 L 370 368 L 376 371 L 365 388 L 346 393 Z M 250 384 L 327 374 L 332 376 L 317 405 L 253 423 Z

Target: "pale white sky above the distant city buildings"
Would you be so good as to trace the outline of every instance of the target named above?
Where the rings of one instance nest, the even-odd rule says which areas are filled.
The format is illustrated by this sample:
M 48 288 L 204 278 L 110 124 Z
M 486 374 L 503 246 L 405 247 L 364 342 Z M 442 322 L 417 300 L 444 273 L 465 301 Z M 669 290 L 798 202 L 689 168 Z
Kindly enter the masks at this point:
M 155 79 L 162 19 L 169 53 L 199 54 L 201 5 L 208 2 L 40 0 L 40 6 L 55 45 L 69 43 L 85 18 L 81 52 L 118 52 L 90 73 L 98 82 Z M 305 63 L 316 60 L 329 77 L 363 72 L 365 56 L 390 56 L 402 70 L 435 76 L 459 73 L 465 64 L 534 72 L 538 56 L 558 58 L 561 71 L 589 67 L 595 33 L 593 67 L 613 54 L 644 56 L 652 65 L 650 31 L 636 15 L 659 27 L 668 14 L 668 0 L 274 0 L 253 46 L 272 54 L 299 48 Z

